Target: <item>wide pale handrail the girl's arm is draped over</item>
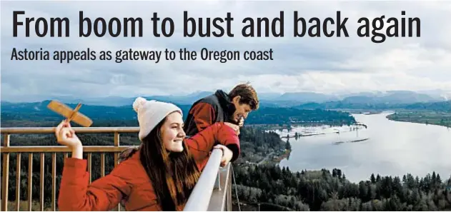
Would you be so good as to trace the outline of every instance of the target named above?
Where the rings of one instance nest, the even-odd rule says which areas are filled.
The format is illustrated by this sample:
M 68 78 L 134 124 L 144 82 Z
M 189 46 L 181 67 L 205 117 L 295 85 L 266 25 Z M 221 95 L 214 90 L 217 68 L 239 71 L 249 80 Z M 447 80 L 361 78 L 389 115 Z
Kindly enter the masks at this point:
M 221 158 L 222 150 L 214 149 L 199 177 L 199 181 L 189 195 L 184 211 L 207 211 L 214 183 L 217 180 Z

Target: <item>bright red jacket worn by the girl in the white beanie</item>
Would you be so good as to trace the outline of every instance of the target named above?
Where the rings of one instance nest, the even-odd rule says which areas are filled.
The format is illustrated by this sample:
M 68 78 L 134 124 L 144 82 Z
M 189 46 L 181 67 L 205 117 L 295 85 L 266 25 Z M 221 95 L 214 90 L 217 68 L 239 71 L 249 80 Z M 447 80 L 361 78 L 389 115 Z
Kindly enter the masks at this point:
M 239 148 L 239 138 L 232 128 L 224 123 L 214 123 L 184 142 L 202 171 L 208 161 L 215 141 L 224 146 Z M 157 203 L 152 183 L 139 161 L 139 151 L 119 163 L 109 175 L 89 185 L 86 160 L 66 158 L 59 189 L 59 211 L 110 211 L 125 198 L 127 211 L 162 211 Z M 178 211 L 183 206 L 177 206 Z

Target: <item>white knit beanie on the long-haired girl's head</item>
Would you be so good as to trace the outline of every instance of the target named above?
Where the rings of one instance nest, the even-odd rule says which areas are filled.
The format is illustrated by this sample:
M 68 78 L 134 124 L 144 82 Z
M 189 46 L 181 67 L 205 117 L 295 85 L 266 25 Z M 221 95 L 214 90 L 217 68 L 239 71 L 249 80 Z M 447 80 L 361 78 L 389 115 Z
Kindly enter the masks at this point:
M 183 114 L 182 109 L 174 104 L 155 100 L 147 101 L 142 97 L 135 99 L 133 109 L 138 113 L 139 140 L 141 141 L 169 113 L 179 111 Z

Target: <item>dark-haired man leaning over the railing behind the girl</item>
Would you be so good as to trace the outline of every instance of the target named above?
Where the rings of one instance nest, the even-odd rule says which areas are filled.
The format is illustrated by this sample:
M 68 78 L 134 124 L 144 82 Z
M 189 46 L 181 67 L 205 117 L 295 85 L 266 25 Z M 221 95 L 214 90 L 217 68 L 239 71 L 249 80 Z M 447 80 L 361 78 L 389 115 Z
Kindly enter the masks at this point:
M 194 102 L 184 122 L 184 131 L 187 136 L 193 136 L 215 122 L 235 123 L 242 127 L 249 112 L 258 108 L 257 92 L 250 84 L 239 84 L 229 94 L 217 90 L 214 94 Z M 239 128 L 235 129 L 239 133 Z M 236 160 L 239 156 L 239 146 L 227 147 L 233 151 L 232 161 Z

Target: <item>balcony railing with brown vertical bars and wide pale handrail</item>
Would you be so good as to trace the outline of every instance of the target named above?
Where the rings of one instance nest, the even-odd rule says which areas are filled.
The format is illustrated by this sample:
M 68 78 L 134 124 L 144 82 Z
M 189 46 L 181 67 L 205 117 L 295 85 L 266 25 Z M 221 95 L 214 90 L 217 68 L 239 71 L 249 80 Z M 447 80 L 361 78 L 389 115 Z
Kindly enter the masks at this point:
M 71 153 L 66 146 L 10 146 L 12 134 L 51 134 L 54 133 L 55 128 L 41 127 L 41 128 L 1 128 L 1 136 L 3 137 L 3 146 L 0 147 L 2 155 L 2 176 L 1 176 L 1 211 L 9 211 L 11 201 L 9 198 L 9 182 L 14 179 L 9 179 L 9 172 L 15 173 L 15 201 L 14 211 L 19 211 L 21 206 L 21 158 L 22 154 L 28 155 L 28 175 L 26 185 L 26 208 L 31 211 L 34 203 L 33 191 L 39 191 L 39 211 L 44 209 L 51 211 L 58 211 L 56 204 L 56 190 L 59 187 L 56 183 L 56 156 L 63 154 L 64 158 Z M 91 182 L 92 171 L 100 169 L 100 177 L 105 176 L 105 155 L 108 153 L 114 154 L 114 167 L 119 164 L 119 153 L 129 146 L 120 146 L 119 138 L 123 133 L 138 133 L 138 127 L 74 127 L 77 134 L 82 133 L 113 133 L 113 146 L 84 146 L 84 153 L 87 154 L 89 182 Z M 32 139 L 32 137 L 30 138 Z M 14 141 L 13 141 L 14 142 Z M 55 141 L 56 144 L 56 141 Z M 16 168 L 9 167 L 10 154 L 16 154 Z M 33 156 L 39 154 L 39 183 L 33 182 Z M 45 154 L 51 155 L 51 164 L 45 163 Z M 100 155 L 100 166 L 93 167 L 93 155 Z M 212 155 L 207 162 L 204 170 L 201 173 L 199 181 L 197 182 L 191 196 L 185 205 L 184 211 L 232 211 L 232 164 L 229 163 L 226 167 L 220 167 L 222 152 L 219 149 L 214 149 Z M 95 163 L 95 162 L 94 162 Z M 46 167 L 49 166 L 49 167 Z M 45 170 L 51 168 L 51 185 L 44 181 Z M 44 196 L 44 188 L 51 187 L 51 196 Z M 22 193 L 23 194 L 23 193 Z M 50 198 L 50 208 L 47 208 L 44 200 Z M 35 208 L 33 208 L 35 209 Z M 114 208 L 114 211 L 123 210 L 120 204 Z

